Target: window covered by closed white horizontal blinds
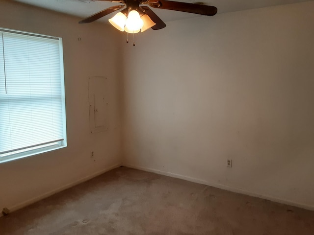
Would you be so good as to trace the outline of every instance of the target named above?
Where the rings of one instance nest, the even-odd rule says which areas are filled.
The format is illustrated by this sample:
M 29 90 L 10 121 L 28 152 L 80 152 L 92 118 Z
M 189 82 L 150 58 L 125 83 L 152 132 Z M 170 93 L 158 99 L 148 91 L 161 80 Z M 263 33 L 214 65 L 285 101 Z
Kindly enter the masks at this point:
M 65 146 L 62 39 L 0 28 L 0 163 Z

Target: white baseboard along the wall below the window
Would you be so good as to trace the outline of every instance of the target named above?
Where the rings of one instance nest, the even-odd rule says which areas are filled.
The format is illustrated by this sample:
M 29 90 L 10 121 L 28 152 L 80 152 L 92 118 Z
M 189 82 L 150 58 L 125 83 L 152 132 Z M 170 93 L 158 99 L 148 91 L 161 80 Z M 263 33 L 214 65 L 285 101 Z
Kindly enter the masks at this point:
M 83 183 L 83 182 L 85 182 L 87 180 L 90 180 L 90 179 L 92 179 L 92 178 L 94 178 L 96 176 L 99 176 L 99 175 L 101 175 L 101 174 L 103 174 L 103 173 L 105 173 L 105 172 L 107 172 L 109 170 L 112 170 L 114 168 L 117 168 L 119 166 L 121 166 L 121 164 L 112 165 L 110 167 L 105 168 L 104 170 L 101 170 L 101 171 L 98 171 L 98 172 L 93 173 L 91 175 L 85 176 L 85 177 L 83 177 L 83 178 L 81 178 L 81 179 L 79 179 L 79 180 L 77 180 L 75 182 L 72 182 L 70 184 L 66 184 L 66 185 L 64 185 L 64 186 L 62 186 L 60 188 L 53 189 L 53 190 L 51 190 L 49 192 L 46 192 L 46 193 L 43 193 L 43 194 L 41 194 L 39 196 L 36 196 L 34 198 L 31 198 L 31 199 L 28 199 L 28 200 L 26 200 L 26 201 L 24 201 L 24 202 L 22 202 L 22 203 L 20 203 L 18 205 L 11 206 L 8 209 L 10 210 L 10 213 L 13 212 L 13 211 L 17 211 L 17 210 L 22 209 L 22 208 L 24 208 L 24 207 L 26 207 L 26 206 L 28 206 L 30 204 L 33 204 L 33 203 L 35 203 L 37 201 L 40 201 L 40 200 L 42 200 L 44 198 L 47 198 L 47 197 L 49 197 L 49 196 L 51 196 L 51 195 L 53 195 L 55 193 L 61 192 L 61 191 L 65 190 L 65 189 L 67 189 L 67 188 L 71 188 L 73 186 L 76 186 L 76 185 L 78 185 L 80 183 Z M 3 216 L 2 213 L 0 213 L 0 217 L 1 216 Z

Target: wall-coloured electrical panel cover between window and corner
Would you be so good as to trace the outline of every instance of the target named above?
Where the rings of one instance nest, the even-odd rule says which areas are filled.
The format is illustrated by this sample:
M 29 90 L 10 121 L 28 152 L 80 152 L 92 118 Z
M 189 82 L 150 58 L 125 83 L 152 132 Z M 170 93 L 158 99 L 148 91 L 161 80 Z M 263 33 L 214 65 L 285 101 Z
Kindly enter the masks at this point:
M 90 133 L 108 130 L 108 79 L 88 78 Z

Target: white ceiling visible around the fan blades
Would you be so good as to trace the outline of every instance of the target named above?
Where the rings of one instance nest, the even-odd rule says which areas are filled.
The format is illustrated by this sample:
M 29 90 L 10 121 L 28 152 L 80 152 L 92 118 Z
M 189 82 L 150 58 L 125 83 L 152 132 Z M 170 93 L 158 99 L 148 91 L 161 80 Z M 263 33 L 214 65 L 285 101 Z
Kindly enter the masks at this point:
M 114 3 L 110 1 L 102 0 L 16 0 L 30 5 L 47 8 L 53 11 L 66 13 L 69 15 L 78 16 L 82 19 L 97 13 L 110 6 L 119 5 L 120 3 Z M 179 1 L 179 0 L 177 0 Z M 215 6 L 218 8 L 219 13 L 247 10 L 253 8 L 283 5 L 289 3 L 297 3 L 308 0 L 181 0 L 189 3 L 202 2 L 206 5 Z M 163 10 L 153 8 L 153 11 L 159 16 L 159 18 L 165 22 L 182 20 L 192 17 L 198 17 L 197 14 Z M 111 13 L 108 16 L 98 20 L 100 22 L 108 22 L 115 13 Z

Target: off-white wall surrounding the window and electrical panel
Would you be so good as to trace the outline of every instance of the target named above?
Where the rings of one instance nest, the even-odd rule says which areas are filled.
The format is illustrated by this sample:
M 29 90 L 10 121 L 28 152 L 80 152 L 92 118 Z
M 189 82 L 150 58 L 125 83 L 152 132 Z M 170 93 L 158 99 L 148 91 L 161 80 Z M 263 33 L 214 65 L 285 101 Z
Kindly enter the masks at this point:
M 0 208 L 19 209 L 121 165 L 117 38 L 104 24 L 0 1 L 0 27 L 63 38 L 68 147 L 0 164 Z M 118 35 L 117 35 L 118 36 Z M 81 38 L 81 41 L 78 41 Z M 109 130 L 89 133 L 88 76 L 107 76 Z M 90 159 L 90 151 L 95 158 Z M 95 161 L 94 161 L 95 160 Z

